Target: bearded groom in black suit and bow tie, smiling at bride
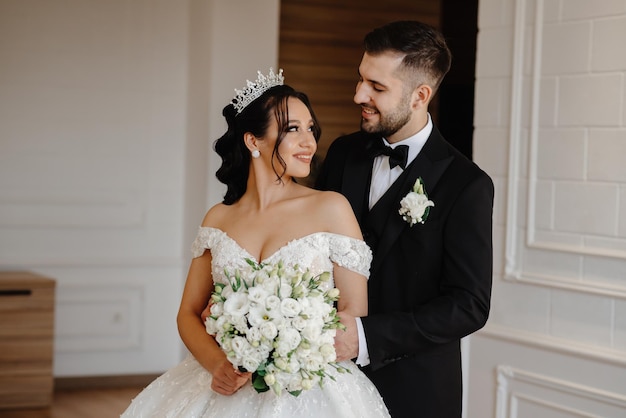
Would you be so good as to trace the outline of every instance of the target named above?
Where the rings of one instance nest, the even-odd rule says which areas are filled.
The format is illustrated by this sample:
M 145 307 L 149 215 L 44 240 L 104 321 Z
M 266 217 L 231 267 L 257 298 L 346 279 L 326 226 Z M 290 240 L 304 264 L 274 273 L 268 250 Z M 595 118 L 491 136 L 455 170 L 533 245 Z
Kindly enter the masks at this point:
M 348 198 L 374 254 L 369 315 L 342 316 L 338 357 L 357 359 L 394 418 L 460 417 L 460 340 L 489 314 L 493 183 L 428 113 L 450 68 L 443 36 L 394 22 L 364 44 L 361 131 L 331 145 L 317 179 Z

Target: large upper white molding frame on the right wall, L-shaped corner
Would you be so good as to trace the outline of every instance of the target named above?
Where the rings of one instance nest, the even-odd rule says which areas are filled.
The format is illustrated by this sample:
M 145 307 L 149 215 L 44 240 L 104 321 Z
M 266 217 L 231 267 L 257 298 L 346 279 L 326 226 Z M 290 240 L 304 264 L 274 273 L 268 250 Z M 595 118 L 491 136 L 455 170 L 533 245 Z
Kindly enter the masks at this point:
M 523 84 L 524 84 L 524 39 L 527 28 L 526 11 L 527 0 L 515 1 L 515 22 L 513 38 L 513 64 L 511 74 L 511 108 L 509 126 L 509 171 L 507 179 L 507 214 L 505 238 L 505 280 L 522 282 L 531 285 L 540 285 L 557 289 L 572 290 L 583 293 L 592 293 L 603 296 L 626 298 L 626 284 L 623 286 L 595 281 L 581 281 L 577 277 L 556 277 L 549 274 L 528 273 L 521 262 L 522 237 L 526 233 L 525 245 L 527 248 L 578 254 L 581 256 L 600 256 L 608 258 L 626 259 L 626 251 L 617 248 L 582 247 L 558 242 L 537 241 L 535 237 L 536 186 L 537 186 L 537 155 L 539 132 L 539 102 L 541 83 L 541 55 L 543 42 L 543 9 L 544 0 L 535 1 L 535 17 L 533 26 L 531 94 L 530 94 L 530 126 L 528 130 L 528 179 L 520 174 L 520 150 L 524 145 L 522 140 L 522 113 L 523 113 Z M 527 180 L 526 228 L 520 222 L 519 207 L 521 200 L 519 186 Z

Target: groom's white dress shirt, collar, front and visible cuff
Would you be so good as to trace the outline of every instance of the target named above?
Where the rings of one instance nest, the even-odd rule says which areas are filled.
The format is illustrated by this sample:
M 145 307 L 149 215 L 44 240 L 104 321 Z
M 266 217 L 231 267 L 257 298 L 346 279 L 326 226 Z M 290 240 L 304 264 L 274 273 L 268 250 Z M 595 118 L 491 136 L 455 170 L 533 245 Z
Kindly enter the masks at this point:
M 385 138 L 383 142 L 385 145 L 395 148 L 398 145 L 408 145 L 409 155 L 407 158 L 407 167 L 417 157 L 417 154 L 422 150 L 426 140 L 433 131 L 433 122 L 428 114 L 428 122 L 426 126 L 413 136 L 403 139 L 402 141 L 390 144 Z M 372 166 L 372 183 L 370 185 L 370 199 L 369 208 L 371 209 L 376 202 L 381 198 L 383 194 L 389 189 L 394 181 L 402 174 L 402 167 L 389 168 L 389 157 L 386 155 L 379 155 L 374 159 L 374 165 Z M 400 216 L 400 215 L 398 215 Z M 359 366 L 367 366 L 370 363 L 369 351 L 367 349 L 367 341 L 365 340 L 365 332 L 363 331 L 363 324 L 361 318 L 356 318 L 356 326 L 359 333 L 359 355 L 356 359 L 356 364 Z

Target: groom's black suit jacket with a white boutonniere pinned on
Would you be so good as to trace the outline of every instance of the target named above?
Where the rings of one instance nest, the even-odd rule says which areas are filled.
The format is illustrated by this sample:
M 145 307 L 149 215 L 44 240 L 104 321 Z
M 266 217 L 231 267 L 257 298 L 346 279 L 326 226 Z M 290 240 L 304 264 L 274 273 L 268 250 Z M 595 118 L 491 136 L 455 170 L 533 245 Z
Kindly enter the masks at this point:
M 364 371 L 393 417 L 459 417 L 460 339 L 489 314 L 493 182 L 435 127 L 370 211 L 367 149 L 375 140 L 361 132 L 338 138 L 317 179 L 348 198 L 374 254 Z M 410 226 L 398 210 L 418 177 L 435 206 L 424 224 Z

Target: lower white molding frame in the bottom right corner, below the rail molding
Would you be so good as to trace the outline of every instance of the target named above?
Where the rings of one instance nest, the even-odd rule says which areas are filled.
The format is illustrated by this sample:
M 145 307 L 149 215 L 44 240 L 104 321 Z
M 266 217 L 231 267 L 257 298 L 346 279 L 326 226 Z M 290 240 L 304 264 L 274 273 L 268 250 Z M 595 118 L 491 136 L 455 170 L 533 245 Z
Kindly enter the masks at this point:
M 567 405 L 558 404 L 549 400 L 540 399 L 536 396 L 524 394 L 511 388 L 511 382 L 518 381 L 533 387 L 543 387 L 557 391 L 576 398 L 588 399 L 605 405 L 626 409 L 626 395 L 581 385 L 576 382 L 566 381 L 550 376 L 532 373 L 517 369 L 508 365 L 497 367 L 497 397 L 496 397 L 496 417 L 507 418 L 517 416 L 517 400 L 527 400 L 537 405 L 542 405 L 557 411 L 565 412 L 569 415 L 580 417 L 597 418 L 598 415 L 585 413 L 583 411 L 570 408 Z M 511 396 L 509 402 L 509 395 Z M 508 414 L 510 412 L 510 414 Z

